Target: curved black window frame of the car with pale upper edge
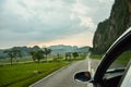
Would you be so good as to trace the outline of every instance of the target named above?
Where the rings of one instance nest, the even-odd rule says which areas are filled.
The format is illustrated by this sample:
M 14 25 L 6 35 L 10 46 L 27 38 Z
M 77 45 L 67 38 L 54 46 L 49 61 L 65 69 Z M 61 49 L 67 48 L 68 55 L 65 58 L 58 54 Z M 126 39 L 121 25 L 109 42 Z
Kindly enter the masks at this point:
M 109 48 L 109 50 L 103 57 L 102 62 L 99 63 L 96 73 L 94 75 L 94 82 L 99 83 L 103 80 L 104 74 L 111 63 L 126 50 L 131 48 L 131 28 L 128 32 L 123 33 Z

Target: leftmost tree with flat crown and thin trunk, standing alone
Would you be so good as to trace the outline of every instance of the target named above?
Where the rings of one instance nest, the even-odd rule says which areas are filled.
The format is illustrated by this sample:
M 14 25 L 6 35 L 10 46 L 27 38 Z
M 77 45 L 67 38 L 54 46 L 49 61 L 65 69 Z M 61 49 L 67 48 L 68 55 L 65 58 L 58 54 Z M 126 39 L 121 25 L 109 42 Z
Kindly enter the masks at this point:
M 11 58 L 12 65 L 13 59 L 21 55 L 21 50 L 5 50 L 4 53 L 7 53 L 9 58 Z

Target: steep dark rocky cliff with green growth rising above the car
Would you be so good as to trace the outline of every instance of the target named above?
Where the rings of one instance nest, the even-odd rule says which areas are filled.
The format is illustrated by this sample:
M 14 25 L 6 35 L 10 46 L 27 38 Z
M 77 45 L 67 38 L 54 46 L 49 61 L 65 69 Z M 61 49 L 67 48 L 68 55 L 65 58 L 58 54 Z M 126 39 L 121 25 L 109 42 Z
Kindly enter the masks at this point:
M 104 53 L 131 26 L 131 0 L 115 0 L 109 18 L 100 22 L 94 35 L 93 50 Z

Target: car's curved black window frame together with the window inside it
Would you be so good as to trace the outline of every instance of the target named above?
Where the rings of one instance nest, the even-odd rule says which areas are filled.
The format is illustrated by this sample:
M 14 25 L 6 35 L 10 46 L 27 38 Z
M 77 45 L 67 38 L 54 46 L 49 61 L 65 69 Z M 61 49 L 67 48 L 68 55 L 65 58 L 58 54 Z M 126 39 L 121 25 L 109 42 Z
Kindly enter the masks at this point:
M 131 58 L 131 28 L 118 38 L 103 57 L 93 84 L 95 87 L 118 87 Z

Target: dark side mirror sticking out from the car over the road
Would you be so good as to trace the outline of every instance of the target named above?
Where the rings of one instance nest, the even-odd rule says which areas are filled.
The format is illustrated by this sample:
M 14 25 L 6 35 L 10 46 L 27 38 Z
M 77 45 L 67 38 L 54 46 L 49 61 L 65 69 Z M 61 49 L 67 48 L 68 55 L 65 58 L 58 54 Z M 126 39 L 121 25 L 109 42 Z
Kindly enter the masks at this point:
M 91 73 L 90 72 L 79 72 L 74 75 L 74 80 L 76 82 L 88 82 L 91 80 Z

